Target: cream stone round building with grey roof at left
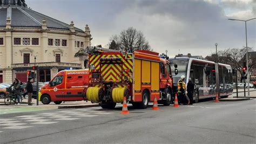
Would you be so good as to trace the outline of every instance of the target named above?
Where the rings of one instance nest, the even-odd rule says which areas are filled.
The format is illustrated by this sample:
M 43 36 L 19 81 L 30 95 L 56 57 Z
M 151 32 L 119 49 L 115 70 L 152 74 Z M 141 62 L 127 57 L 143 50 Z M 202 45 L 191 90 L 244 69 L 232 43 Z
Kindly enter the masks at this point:
M 65 24 L 29 9 L 24 0 L 0 0 L 0 83 L 14 77 L 25 82 L 35 57 L 41 82 L 63 69 L 85 68 L 75 54 L 91 40 L 88 25 L 80 30 L 73 21 Z

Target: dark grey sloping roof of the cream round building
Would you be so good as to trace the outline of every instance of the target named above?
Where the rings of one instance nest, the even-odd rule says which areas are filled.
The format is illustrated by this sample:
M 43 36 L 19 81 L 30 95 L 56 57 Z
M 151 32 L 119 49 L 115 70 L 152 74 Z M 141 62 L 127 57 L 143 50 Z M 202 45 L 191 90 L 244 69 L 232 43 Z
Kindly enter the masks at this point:
M 39 27 L 41 28 L 45 19 L 48 28 L 70 30 L 70 25 L 62 21 L 45 16 L 42 13 L 28 8 L 25 0 L 0 0 L 0 27 L 6 26 L 6 19 L 10 18 L 11 27 Z M 76 32 L 84 32 L 75 27 Z

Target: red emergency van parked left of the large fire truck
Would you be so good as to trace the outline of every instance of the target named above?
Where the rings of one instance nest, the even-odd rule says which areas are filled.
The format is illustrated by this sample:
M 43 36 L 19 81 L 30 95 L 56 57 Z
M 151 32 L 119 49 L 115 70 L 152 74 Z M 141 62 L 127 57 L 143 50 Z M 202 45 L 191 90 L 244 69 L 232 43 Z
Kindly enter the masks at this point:
M 84 88 L 89 83 L 89 69 L 62 70 L 39 91 L 38 99 L 43 104 L 84 100 Z

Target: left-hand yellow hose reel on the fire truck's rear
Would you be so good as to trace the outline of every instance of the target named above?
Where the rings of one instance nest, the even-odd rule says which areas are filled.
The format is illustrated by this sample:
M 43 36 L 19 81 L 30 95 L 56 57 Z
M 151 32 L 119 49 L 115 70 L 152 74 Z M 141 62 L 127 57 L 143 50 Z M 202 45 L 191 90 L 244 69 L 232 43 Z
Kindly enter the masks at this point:
M 86 91 L 86 98 L 91 102 L 99 102 L 100 95 L 103 94 L 102 87 L 89 87 Z

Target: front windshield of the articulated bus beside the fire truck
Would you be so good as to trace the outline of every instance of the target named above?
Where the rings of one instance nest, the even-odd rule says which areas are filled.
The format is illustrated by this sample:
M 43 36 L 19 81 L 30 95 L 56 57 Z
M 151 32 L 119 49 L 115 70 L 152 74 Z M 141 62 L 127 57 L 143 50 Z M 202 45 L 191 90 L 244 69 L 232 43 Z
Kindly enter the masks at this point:
M 180 77 L 182 75 L 187 76 L 187 64 L 188 61 L 187 60 L 171 60 L 171 69 L 172 69 L 172 74 L 175 74 L 174 70 L 174 64 L 177 64 L 178 67 L 178 75 L 176 76 L 172 76 L 173 77 L 173 83 L 178 83 Z M 186 80 L 185 80 L 186 82 Z

